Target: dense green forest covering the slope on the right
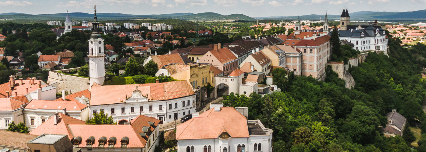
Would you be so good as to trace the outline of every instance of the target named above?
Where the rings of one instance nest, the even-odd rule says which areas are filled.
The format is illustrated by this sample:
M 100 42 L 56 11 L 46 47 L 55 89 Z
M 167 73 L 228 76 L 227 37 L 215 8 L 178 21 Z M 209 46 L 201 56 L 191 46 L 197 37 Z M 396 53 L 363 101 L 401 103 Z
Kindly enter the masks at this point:
M 412 133 L 386 138 L 380 126 L 386 126 L 391 109 L 407 118 L 407 126 L 423 122 L 420 105 L 426 81 L 420 73 L 426 65 L 426 46 L 403 49 L 399 40 L 389 41 L 389 57 L 370 53 L 365 62 L 349 69 L 356 82 L 353 89 L 345 88 L 328 68 L 325 82 L 293 73 L 284 77 L 286 72 L 274 69 L 274 82 L 282 92 L 264 97 L 231 94 L 222 102 L 248 106 L 249 119 L 273 129 L 274 152 L 411 152 Z M 419 143 L 425 142 L 426 134 Z M 425 147 L 414 149 L 423 152 Z

